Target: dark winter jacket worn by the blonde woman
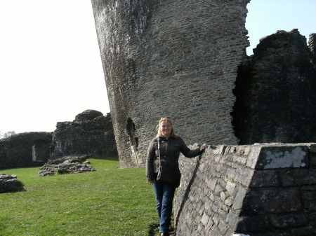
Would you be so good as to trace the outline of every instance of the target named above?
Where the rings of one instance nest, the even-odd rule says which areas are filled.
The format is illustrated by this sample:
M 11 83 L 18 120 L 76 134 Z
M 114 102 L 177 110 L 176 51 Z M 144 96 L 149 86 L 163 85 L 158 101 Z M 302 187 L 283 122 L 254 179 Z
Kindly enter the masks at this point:
M 187 158 L 194 158 L 202 153 L 199 148 L 191 150 L 185 145 L 183 139 L 178 136 L 171 135 L 169 139 L 164 136 L 159 137 L 160 140 L 160 158 L 162 160 L 162 166 L 168 165 L 175 171 L 179 170 L 179 155 L 180 152 Z M 154 180 L 154 173 L 157 173 L 159 169 L 159 154 L 158 154 L 158 137 L 155 137 L 150 142 L 150 146 L 147 151 L 146 159 L 146 176 L 147 181 Z

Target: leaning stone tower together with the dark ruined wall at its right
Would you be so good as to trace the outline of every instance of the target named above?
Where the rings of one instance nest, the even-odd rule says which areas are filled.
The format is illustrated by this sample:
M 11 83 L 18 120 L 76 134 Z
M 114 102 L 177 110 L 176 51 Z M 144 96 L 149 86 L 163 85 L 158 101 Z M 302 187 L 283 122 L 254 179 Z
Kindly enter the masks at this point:
M 144 166 L 161 116 L 187 144 L 315 140 L 315 35 L 246 56 L 249 1 L 92 0 L 121 167 Z

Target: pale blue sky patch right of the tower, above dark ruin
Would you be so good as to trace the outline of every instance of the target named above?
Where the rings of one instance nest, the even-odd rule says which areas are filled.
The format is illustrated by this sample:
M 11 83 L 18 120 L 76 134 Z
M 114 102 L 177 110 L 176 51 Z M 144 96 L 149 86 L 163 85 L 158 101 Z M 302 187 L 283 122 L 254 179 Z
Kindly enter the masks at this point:
M 307 41 L 309 34 L 316 33 L 316 0 L 251 0 L 247 9 L 246 29 L 251 44 L 248 55 L 259 39 L 277 30 L 298 29 Z

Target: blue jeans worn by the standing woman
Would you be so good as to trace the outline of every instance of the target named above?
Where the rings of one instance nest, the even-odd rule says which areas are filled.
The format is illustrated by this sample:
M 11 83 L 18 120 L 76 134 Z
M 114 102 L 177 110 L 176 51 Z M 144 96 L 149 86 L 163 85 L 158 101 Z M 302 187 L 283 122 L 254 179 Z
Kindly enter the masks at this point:
M 171 222 L 173 197 L 176 188 L 169 186 L 166 183 L 160 183 L 157 179 L 157 174 L 154 174 L 154 195 L 157 202 L 157 213 L 159 216 L 159 232 L 168 232 Z

